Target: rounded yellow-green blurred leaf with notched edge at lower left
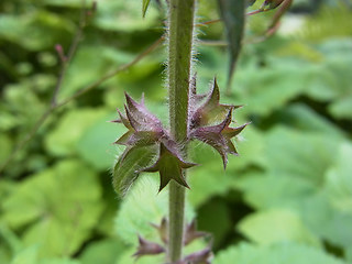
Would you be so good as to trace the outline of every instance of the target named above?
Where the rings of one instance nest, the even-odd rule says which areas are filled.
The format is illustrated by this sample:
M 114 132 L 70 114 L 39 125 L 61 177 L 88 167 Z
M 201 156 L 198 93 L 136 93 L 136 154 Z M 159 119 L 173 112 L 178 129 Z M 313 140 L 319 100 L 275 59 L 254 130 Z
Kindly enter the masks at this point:
M 68 255 L 98 224 L 103 209 L 100 198 L 92 169 L 78 161 L 64 161 L 23 180 L 2 201 L 2 219 L 15 230 L 26 227 L 22 241 L 40 245 L 40 256 Z

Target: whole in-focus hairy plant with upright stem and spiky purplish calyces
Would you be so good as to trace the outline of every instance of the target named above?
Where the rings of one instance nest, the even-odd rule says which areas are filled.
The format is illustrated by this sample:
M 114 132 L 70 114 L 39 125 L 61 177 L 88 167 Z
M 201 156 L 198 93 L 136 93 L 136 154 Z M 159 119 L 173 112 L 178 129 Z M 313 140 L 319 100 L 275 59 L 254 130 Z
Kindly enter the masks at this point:
M 160 2 L 160 1 L 158 1 Z M 230 66 L 228 87 L 235 68 L 244 32 L 245 10 L 255 0 L 218 0 L 219 12 L 226 25 L 229 42 Z M 290 4 L 290 0 L 266 0 L 251 13 L 280 7 L 270 30 Z M 143 0 L 143 15 L 150 1 Z M 135 256 L 166 252 L 165 262 L 173 264 L 201 264 L 211 262 L 211 249 L 183 256 L 183 246 L 204 237 L 195 222 L 184 223 L 185 190 L 189 188 L 186 172 L 197 164 L 187 157 L 190 141 L 212 146 L 222 157 L 226 168 L 229 154 L 238 154 L 231 141 L 246 127 L 232 125 L 238 106 L 220 103 L 217 79 L 208 94 L 197 94 L 197 77 L 193 73 L 196 0 L 168 0 L 167 12 L 167 89 L 169 123 L 163 124 L 144 105 L 125 94 L 124 110 L 118 110 L 114 122 L 122 123 L 127 132 L 116 141 L 125 150 L 113 170 L 113 186 L 123 196 L 144 172 L 158 173 L 160 191 L 169 188 L 168 218 L 157 226 L 164 245 L 139 238 Z

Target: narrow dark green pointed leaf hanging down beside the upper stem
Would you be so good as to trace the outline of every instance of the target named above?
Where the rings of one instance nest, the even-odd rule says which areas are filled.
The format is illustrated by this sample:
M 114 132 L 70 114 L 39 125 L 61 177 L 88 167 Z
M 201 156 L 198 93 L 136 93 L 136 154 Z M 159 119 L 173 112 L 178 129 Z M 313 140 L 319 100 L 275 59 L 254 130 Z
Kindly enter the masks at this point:
M 218 0 L 220 15 L 227 29 L 229 42 L 230 66 L 228 74 L 228 87 L 231 85 L 235 64 L 241 52 L 245 22 L 245 0 Z

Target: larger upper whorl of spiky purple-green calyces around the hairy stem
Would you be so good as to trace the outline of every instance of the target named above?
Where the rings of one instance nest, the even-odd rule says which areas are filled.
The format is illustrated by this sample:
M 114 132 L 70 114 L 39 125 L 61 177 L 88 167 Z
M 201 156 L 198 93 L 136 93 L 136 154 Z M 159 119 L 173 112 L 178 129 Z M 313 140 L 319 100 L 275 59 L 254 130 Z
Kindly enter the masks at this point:
M 231 139 L 246 127 L 246 124 L 238 128 L 230 127 L 232 111 L 239 107 L 219 102 L 220 91 L 216 79 L 208 95 L 198 95 L 196 76 L 194 76 L 189 90 L 188 120 L 185 120 L 188 131 L 187 141 L 199 140 L 212 146 L 221 155 L 226 168 L 228 154 L 238 154 Z M 113 121 L 122 123 L 128 129 L 128 132 L 114 142 L 127 146 L 119 160 L 119 166 L 123 165 L 125 157 L 135 148 L 157 147 L 157 158 L 154 164 L 144 167 L 136 166 L 139 169 L 133 172 L 133 177 L 136 178 L 135 174 L 139 175 L 142 172 L 158 172 L 160 191 L 172 179 L 188 188 L 183 170 L 196 164 L 184 161 L 178 143 L 164 129 L 162 122 L 146 109 L 144 98 L 141 102 L 136 102 L 125 94 L 125 114 L 118 110 L 120 118 Z M 138 157 L 133 162 L 138 164 Z M 119 177 L 119 174 L 114 177 Z

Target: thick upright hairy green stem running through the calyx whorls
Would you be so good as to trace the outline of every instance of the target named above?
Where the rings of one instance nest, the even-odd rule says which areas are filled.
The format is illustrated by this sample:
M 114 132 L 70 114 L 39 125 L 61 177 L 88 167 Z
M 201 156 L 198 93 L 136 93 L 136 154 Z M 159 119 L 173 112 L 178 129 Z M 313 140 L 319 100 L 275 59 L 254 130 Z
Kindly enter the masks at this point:
M 187 156 L 188 95 L 191 64 L 195 0 L 170 0 L 168 12 L 168 92 L 170 133 Z M 185 188 L 169 184 L 168 258 L 182 257 Z

